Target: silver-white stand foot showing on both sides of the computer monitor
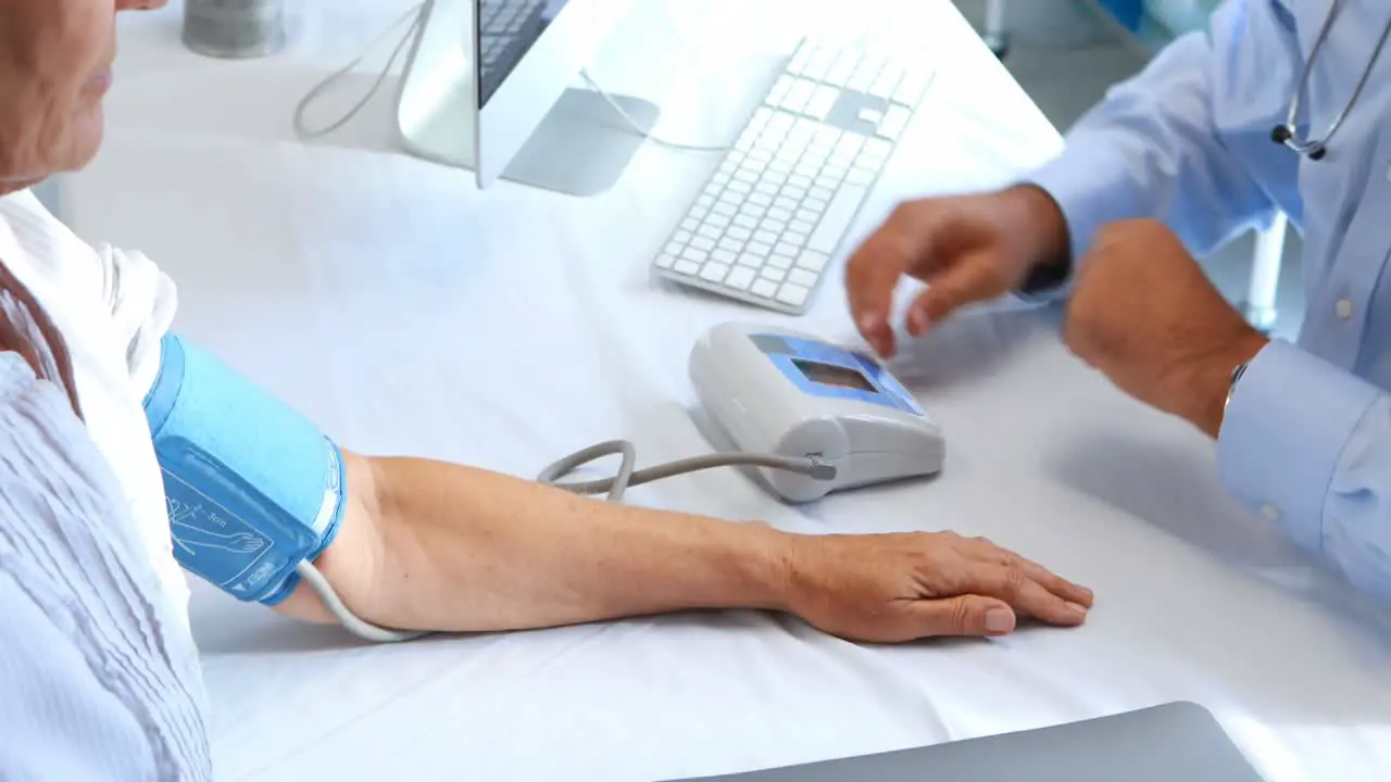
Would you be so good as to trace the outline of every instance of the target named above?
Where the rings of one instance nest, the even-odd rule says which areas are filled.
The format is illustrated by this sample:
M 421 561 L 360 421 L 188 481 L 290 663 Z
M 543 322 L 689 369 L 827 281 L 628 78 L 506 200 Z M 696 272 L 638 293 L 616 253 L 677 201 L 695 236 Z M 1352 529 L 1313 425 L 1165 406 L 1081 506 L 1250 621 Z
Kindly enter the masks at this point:
M 466 3 L 434 4 L 434 14 L 463 14 Z M 469 17 L 423 24 L 396 100 L 402 147 L 424 160 L 476 170 L 476 110 L 469 53 L 453 31 Z M 502 173 L 502 178 L 574 196 L 598 195 L 618 182 L 657 125 L 661 110 L 629 96 L 611 96 L 629 124 L 598 92 L 568 89 Z M 636 127 L 633 127 L 636 125 Z

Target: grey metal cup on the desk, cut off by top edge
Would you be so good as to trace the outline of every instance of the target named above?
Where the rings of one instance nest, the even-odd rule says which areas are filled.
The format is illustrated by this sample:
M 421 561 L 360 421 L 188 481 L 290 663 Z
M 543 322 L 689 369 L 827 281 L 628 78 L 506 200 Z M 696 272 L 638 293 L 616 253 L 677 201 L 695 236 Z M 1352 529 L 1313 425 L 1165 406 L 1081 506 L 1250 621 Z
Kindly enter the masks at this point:
M 184 46 L 209 57 L 245 60 L 285 46 L 285 0 L 185 0 Z

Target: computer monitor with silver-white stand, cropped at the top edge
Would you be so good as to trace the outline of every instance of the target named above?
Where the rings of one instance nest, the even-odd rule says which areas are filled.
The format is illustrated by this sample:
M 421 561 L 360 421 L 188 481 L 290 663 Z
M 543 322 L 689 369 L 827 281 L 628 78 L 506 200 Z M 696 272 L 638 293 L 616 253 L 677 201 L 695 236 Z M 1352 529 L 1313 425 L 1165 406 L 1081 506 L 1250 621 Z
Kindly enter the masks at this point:
M 430 0 L 396 104 L 403 147 L 474 173 L 569 195 L 622 175 L 657 106 L 577 86 L 636 0 Z

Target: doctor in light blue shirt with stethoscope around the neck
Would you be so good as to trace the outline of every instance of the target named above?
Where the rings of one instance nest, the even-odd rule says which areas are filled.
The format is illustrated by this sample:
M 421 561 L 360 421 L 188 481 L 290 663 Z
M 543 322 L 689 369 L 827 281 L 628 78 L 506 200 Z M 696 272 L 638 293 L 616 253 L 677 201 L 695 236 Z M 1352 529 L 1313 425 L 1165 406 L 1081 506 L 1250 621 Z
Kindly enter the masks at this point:
M 1232 497 L 1391 598 L 1391 6 L 1228 0 L 1116 86 L 1066 152 L 1000 192 L 901 205 L 847 269 L 864 337 L 929 282 L 910 334 L 1008 292 L 1067 299 L 1063 337 L 1217 441 Z M 1267 340 L 1193 260 L 1285 212 L 1298 341 Z

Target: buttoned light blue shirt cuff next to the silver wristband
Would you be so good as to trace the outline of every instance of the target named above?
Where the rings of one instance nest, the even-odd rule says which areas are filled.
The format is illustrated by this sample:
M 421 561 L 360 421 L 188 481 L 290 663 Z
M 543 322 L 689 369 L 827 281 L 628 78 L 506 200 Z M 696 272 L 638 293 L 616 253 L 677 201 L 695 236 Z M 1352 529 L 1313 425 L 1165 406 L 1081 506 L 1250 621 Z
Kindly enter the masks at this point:
M 1323 508 L 1338 458 L 1378 390 L 1271 340 L 1246 366 L 1223 415 L 1217 469 L 1231 495 L 1323 550 Z

